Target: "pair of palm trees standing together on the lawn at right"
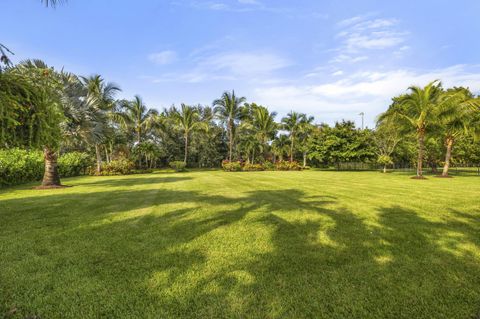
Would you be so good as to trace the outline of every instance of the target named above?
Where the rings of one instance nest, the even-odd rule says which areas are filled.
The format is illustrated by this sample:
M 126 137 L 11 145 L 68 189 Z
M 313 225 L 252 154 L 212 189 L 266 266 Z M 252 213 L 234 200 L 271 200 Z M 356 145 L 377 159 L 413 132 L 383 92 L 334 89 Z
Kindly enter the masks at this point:
M 480 135 L 480 98 L 466 88 L 442 88 L 435 80 L 425 87 L 412 86 L 407 94 L 393 99 L 389 109 L 380 115 L 379 124 L 393 123 L 402 132 L 417 138 L 416 178 L 423 178 L 425 138 L 427 134 L 442 136 L 445 161 L 442 176 L 448 176 L 452 149 L 457 138 L 463 135 Z

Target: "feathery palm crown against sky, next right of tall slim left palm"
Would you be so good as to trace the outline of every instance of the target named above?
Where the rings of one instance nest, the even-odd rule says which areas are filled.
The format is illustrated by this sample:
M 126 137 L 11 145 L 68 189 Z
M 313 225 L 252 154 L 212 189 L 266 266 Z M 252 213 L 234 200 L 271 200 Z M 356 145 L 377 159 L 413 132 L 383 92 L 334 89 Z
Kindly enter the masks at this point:
M 130 129 L 135 135 L 135 143 L 142 141 L 143 135 L 148 130 L 158 125 L 158 111 L 148 109 L 140 96 L 136 95 L 132 101 L 123 100 L 119 104 L 119 110 L 113 114 L 113 117 L 122 124 L 123 127 Z

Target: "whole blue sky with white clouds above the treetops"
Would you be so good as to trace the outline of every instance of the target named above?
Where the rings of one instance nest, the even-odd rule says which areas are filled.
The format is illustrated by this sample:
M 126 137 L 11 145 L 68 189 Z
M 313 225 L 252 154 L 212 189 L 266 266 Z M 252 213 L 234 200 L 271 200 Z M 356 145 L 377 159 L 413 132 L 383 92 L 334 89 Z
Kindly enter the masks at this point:
M 149 107 L 235 89 L 279 113 L 366 123 L 411 84 L 480 93 L 478 0 L 2 0 L 0 42 Z

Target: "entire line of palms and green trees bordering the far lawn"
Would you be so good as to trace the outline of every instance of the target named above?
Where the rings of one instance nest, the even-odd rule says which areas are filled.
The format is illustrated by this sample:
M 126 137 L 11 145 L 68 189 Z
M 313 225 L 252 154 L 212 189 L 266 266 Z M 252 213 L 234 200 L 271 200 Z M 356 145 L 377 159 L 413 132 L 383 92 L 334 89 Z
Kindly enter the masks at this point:
M 91 154 L 97 174 L 104 165 L 128 159 L 138 169 L 183 161 L 190 167 L 218 167 L 222 160 L 249 164 L 298 161 L 301 166 L 341 162 L 389 165 L 416 163 L 417 178 L 428 164 L 452 159 L 480 162 L 479 98 L 467 88 L 442 88 L 439 81 L 411 87 L 394 97 L 375 129 L 351 121 L 333 126 L 291 111 L 277 119 L 268 107 L 234 91 L 211 105 L 171 106 L 159 111 L 140 96 L 118 99 L 120 87 L 100 75 L 57 71 L 27 60 L 0 71 L 2 148 L 42 149 L 43 185 L 59 185 L 59 153 Z

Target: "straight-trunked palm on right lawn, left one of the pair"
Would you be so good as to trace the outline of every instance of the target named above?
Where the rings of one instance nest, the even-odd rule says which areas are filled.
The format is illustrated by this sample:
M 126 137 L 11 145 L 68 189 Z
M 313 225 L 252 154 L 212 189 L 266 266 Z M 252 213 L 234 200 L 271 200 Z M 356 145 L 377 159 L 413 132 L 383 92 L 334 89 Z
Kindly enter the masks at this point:
M 418 157 L 416 178 L 423 177 L 423 157 L 425 152 L 425 135 L 428 127 L 435 121 L 435 113 L 439 107 L 442 85 L 438 80 L 425 87 L 411 86 L 409 93 L 394 100 L 392 106 L 380 116 L 380 120 L 397 116 L 399 124 L 414 129 L 417 136 Z

